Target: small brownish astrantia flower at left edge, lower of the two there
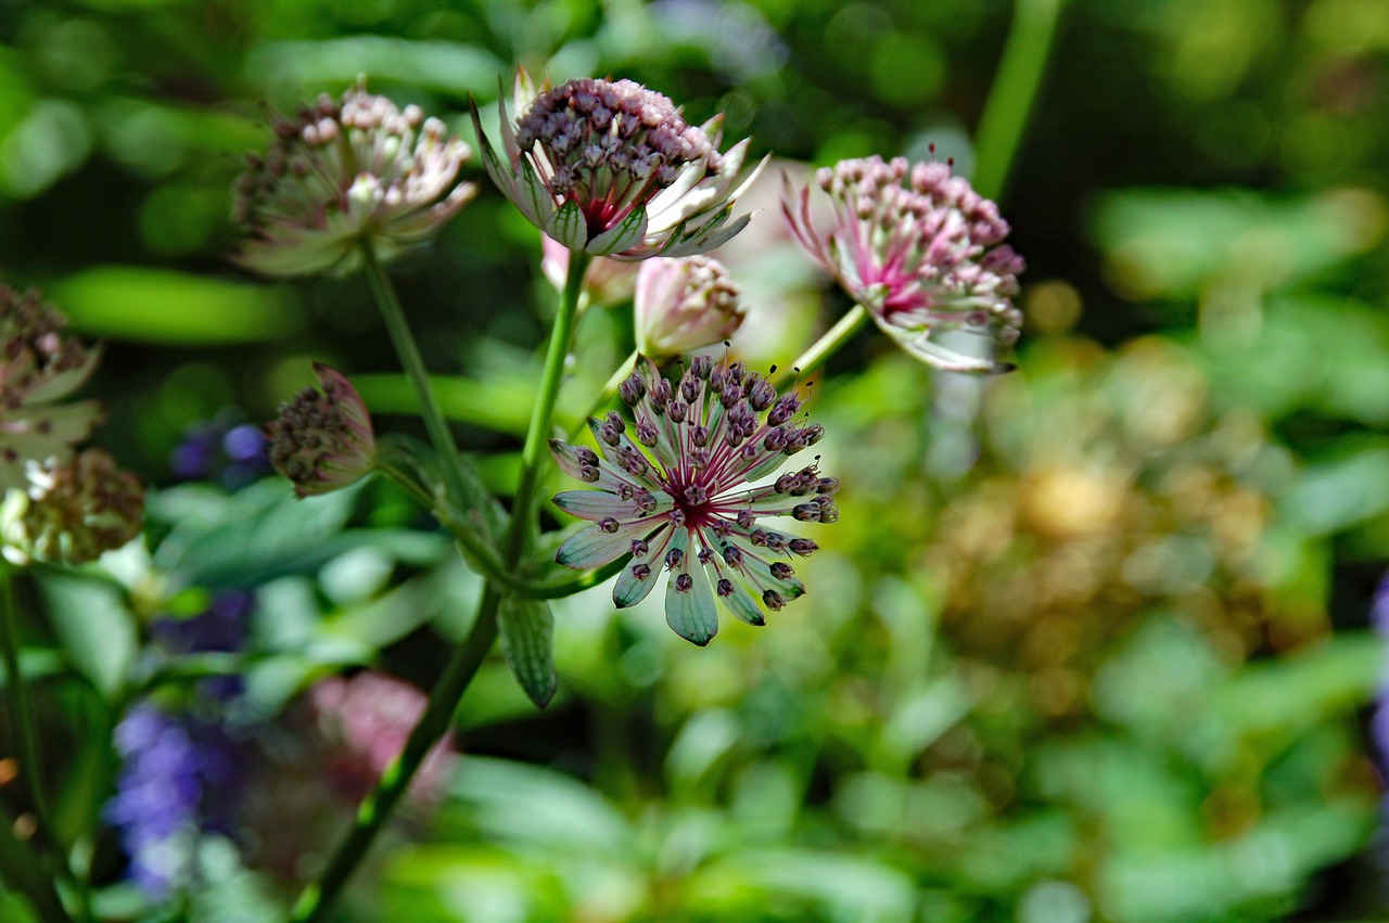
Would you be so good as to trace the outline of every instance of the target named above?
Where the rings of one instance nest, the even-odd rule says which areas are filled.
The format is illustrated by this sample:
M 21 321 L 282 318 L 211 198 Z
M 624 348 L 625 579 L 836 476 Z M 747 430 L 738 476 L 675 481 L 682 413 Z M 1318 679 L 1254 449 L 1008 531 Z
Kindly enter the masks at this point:
M 4 557 L 17 564 L 86 564 L 140 533 L 144 486 L 100 448 L 65 462 L 29 464 L 29 484 L 0 505 Z

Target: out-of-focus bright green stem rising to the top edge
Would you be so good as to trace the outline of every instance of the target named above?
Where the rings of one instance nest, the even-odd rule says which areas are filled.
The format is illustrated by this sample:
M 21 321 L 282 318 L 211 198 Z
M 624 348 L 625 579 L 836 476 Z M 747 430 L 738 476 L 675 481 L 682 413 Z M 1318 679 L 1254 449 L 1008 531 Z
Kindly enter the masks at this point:
M 1042 87 L 1065 0 L 1017 0 L 999 72 L 979 117 L 972 186 L 985 198 L 1003 194 L 1028 117 Z

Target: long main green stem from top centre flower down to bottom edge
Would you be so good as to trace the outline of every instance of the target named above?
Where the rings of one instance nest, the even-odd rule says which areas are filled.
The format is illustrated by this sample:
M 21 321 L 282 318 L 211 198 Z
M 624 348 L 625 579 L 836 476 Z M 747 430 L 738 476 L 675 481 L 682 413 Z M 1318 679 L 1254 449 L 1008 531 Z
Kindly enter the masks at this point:
M 574 335 L 574 319 L 578 315 L 579 294 L 583 290 L 583 273 L 590 258 L 586 254 L 569 254 L 569 276 L 564 286 L 564 297 L 560 303 L 560 314 L 554 319 L 550 330 L 550 347 L 544 357 L 544 373 L 540 379 L 540 394 L 536 397 L 535 409 L 531 416 L 531 426 L 526 432 L 525 447 L 521 450 L 521 477 L 517 482 L 515 500 L 511 507 L 511 523 L 507 529 L 507 541 L 503 550 L 503 565 L 514 570 L 521 561 L 526 547 L 526 537 L 531 532 L 531 519 L 535 505 L 535 490 L 540 480 L 540 462 L 544 458 L 546 440 L 550 433 L 550 419 L 554 414 L 554 401 L 560 393 L 560 380 L 564 378 L 564 359 L 569 351 L 569 340 Z M 478 668 L 486 659 L 497 637 L 497 608 L 501 605 L 501 588 L 496 582 L 489 580 L 482 593 L 482 602 L 478 605 L 478 618 L 468 632 L 468 637 L 458 645 L 443 676 L 429 694 L 429 704 L 424 716 L 404 750 L 386 768 L 376 787 L 361 802 L 357 809 L 357 819 L 347 837 L 339 844 L 338 851 L 328 862 L 322 876 L 299 895 L 290 919 L 294 923 L 314 923 L 321 920 L 332 905 L 338 892 L 351 877 L 353 872 L 367 855 L 376 834 L 390 818 L 396 802 L 406 793 L 410 780 L 419 769 L 429 750 L 443 737 L 453 723 L 453 715 L 468 688 L 468 683 L 476 675 Z

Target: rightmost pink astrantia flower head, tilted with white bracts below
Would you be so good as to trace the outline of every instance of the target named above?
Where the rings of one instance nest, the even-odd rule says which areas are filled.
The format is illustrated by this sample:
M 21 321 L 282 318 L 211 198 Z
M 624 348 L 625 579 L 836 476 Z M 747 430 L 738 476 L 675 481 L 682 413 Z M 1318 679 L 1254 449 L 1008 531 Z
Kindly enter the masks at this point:
M 1022 258 L 1003 244 L 1008 223 L 949 164 L 908 167 L 897 157 L 846 160 L 815 173 L 835 221 L 814 226 L 810 186 L 786 183 L 792 232 L 849 296 L 908 353 L 936 368 L 999 372 L 992 357 L 958 353 L 932 335 L 963 329 L 1011 346 L 1022 312 L 1013 305 Z

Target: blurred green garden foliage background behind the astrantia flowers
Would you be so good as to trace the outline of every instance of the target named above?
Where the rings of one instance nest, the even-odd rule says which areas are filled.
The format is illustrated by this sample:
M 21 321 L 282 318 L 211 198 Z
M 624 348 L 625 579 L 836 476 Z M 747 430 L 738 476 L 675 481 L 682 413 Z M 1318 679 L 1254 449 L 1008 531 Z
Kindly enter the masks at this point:
M 976 146 L 1032 89 L 990 101 L 1004 47 L 1026 71 L 1049 37 L 1015 154 Z M 246 425 L 311 359 L 418 429 L 360 279 L 228 261 L 263 110 L 367 74 L 471 139 L 515 64 L 640 81 L 775 154 L 725 254 L 758 362 L 849 307 L 781 226 L 782 168 L 935 144 L 982 171 L 1029 264 L 1020 371 L 863 333 L 815 384 L 845 487 L 811 593 L 706 650 L 658 607 L 558 604 L 556 701 L 483 669 L 342 919 L 1385 915 L 1382 0 L 0 0 L 0 278 L 104 340 L 101 441 L 157 489 L 110 580 L 21 587 L 106 917 L 275 919 L 408 723 L 381 676 L 428 688 L 478 594 L 389 486 L 263 479 Z M 478 200 L 394 276 L 506 490 L 556 294 L 468 169 Z M 585 319 L 567 423 L 628 314 Z

